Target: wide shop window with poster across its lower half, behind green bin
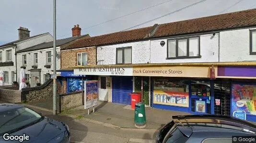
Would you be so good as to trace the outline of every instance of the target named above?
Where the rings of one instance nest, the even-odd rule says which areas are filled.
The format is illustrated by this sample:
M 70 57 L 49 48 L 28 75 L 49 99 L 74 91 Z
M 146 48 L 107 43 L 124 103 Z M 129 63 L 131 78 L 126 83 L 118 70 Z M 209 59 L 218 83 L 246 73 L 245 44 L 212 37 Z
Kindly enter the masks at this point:
M 186 81 L 154 79 L 153 103 L 188 107 L 188 101 Z

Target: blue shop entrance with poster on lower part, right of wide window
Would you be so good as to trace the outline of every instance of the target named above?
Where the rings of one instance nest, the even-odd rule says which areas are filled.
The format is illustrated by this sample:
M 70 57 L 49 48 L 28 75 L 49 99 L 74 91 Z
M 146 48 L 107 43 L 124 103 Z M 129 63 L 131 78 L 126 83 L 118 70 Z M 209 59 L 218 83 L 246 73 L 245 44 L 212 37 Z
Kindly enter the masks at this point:
M 191 111 L 210 114 L 210 81 L 191 82 Z

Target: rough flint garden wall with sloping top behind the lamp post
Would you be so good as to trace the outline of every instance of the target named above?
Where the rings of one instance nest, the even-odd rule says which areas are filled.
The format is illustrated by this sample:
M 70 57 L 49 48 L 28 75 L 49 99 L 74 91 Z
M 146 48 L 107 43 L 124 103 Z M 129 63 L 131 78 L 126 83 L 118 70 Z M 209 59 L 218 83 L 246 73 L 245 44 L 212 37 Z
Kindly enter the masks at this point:
M 57 80 L 57 92 L 61 93 L 61 84 Z M 49 99 L 53 96 L 53 80 L 50 79 L 41 86 L 22 89 L 22 101 L 34 102 Z

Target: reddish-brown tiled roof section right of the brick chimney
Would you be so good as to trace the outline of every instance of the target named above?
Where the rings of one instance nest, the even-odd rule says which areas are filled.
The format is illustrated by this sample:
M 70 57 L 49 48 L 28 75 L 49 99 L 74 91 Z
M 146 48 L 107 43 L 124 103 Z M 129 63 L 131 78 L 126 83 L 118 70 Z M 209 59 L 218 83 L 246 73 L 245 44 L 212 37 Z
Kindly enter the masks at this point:
M 146 36 L 146 34 L 148 34 L 151 31 L 151 28 L 152 26 L 130 30 L 130 31 L 120 31 L 120 32 L 95 36 L 88 39 L 81 39 L 70 44 L 65 48 L 62 48 L 61 50 L 75 49 L 75 48 L 81 48 L 81 47 L 91 47 L 91 46 L 98 46 L 98 45 L 107 45 L 107 44 L 129 42 L 129 41 L 139 41 L 139 40 L 142 40 Z

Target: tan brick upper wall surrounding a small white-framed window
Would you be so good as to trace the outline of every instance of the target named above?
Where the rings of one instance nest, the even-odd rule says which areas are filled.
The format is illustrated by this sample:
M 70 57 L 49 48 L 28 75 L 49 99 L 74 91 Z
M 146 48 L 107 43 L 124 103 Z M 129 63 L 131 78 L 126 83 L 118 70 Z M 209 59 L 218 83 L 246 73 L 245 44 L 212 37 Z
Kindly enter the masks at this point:
M 66 69 L 77 66 L 77 53 L 87 52 L 88 65 L 96 65 L 96 48 L 84 48 L 77 50 L 61 51 L 60 68 Z

